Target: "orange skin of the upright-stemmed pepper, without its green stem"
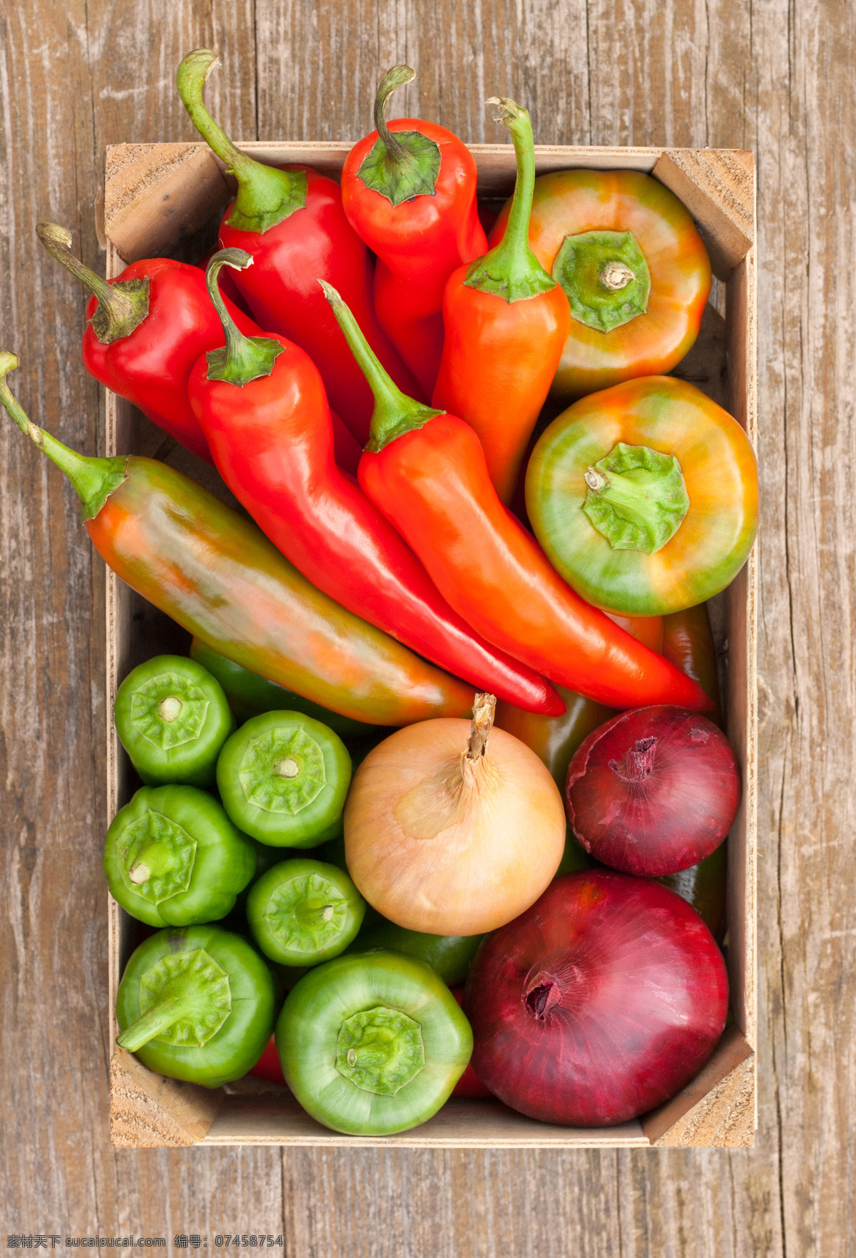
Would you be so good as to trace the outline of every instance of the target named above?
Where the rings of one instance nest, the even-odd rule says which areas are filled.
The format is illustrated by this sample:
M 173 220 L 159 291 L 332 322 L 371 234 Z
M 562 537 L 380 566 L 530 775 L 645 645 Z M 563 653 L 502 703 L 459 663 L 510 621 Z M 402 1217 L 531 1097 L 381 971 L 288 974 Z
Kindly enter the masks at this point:
M 570 312 L 558 286 L 506 302 L 468 288 L 467 269 L 458 267 L 443 293 L 446 342 L 431 404 L 475 428 L 507 504 L 568 340 Z

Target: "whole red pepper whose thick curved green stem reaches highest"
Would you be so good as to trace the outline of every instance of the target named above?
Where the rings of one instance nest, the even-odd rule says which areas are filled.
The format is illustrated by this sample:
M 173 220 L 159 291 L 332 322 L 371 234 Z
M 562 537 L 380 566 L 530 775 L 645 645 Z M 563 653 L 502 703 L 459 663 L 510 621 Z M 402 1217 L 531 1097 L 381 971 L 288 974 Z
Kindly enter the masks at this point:
M 389 343 L 371 303 L 371 263 L 345 216 L 339 184 L 308 166 L 276 169 L 242 153 L 203 104 L 203 84 L 218 62 L 199 48 L 179 67 L 177 87 L 203 140 L 238 180 L 238 195 L 220 224 L 220 248 L 244 249 L 256 265 L 238 277 L 253 317 L 287 336 L 315 362 L 327 398 L 360 445 L 371 419 L 371 392 L 347 352 L 318 276 L 347 294 L 373 350 L 409 392 L 419 386 Z

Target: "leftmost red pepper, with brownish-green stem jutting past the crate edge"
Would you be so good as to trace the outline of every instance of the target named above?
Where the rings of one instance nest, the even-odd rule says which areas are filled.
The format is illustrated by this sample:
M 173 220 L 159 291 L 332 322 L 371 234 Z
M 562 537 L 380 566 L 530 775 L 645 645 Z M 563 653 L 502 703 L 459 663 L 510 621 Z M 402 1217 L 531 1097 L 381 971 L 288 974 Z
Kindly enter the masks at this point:
M 87 371 L 200 459 L 213 463 L 188 401 L 191 366 L 200 353 L 223 341 L 205 277 L 185 262 L 144 258 L 117 279 L 101 279 L 70 252 L 72 235 L 65 228 L 39 223 L 35 230 L 48 253 L 93 293 L 81 343 Z M 252 320 L 232 302 L 227 308 L 240 331 L 252 336 Z

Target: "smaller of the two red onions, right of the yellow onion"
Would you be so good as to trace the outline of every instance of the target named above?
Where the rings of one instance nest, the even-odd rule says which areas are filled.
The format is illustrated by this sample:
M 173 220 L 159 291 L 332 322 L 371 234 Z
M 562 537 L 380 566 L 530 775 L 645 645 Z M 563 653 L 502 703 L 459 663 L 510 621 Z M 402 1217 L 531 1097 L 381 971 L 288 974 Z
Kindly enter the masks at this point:
M 658 878 L 697 864 L 726 837 L 739 804 L 728 738 L 686 708 L 621 712 L 568 766 L 574 834 L 595 860 L 623 873 Z

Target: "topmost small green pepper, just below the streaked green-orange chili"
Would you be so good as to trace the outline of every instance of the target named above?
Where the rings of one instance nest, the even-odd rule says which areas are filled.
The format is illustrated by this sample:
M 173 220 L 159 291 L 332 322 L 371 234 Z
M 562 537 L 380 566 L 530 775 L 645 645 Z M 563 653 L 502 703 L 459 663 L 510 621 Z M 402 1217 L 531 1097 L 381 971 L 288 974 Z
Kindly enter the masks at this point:
M 155 655 L 116 692 L 116 732 L 147 786 L 213 786 L 220 747 L 235 727 L 220 683 L 184 655 Z

